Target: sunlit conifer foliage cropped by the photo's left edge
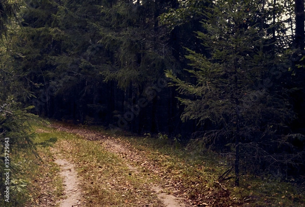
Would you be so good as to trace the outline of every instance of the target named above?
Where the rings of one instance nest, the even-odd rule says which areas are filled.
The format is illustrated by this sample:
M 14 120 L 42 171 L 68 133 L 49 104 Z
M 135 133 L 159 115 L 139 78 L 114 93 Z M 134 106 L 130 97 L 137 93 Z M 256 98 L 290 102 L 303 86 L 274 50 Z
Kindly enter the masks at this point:
M 24 107 L 22 102 L 33 94 L 23 85 L 24 74 L 18 70 L 14 56 L 15 42 L 20 34 L 20 27 L 15 17 L 18 10 L 16 2 L 2 1 L 0 3 L 0 205 L 5 206 L 7 187 L 10 189 L 10 206 L 17 206 L 21 201 L 22 188 L 16 172 L 19 166 L 13 162 L 13 157 L 19 153 L 35 153 L 30 132 L 29 121 L 36 116 L 28 113 L 32 106 Z M 6 174 L 5 174 L 6 173 Z M 9 173 L 10 182 L 6 180 Z

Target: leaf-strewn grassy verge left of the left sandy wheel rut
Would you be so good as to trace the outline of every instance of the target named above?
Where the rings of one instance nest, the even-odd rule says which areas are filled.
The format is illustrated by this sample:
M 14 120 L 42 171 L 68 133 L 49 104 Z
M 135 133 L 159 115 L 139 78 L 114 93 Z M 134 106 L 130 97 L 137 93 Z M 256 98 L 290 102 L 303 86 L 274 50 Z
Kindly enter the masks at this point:
M 63 194 L 63 183 L 49 150 L 54 140 L 42 133 L 43 128 L 33 128 L 33 132 L 39 129 L 33 139 L 35 153 L 28 150 L 11 154 L 10 202 L 0 203 L 1 206 L 58 206 L 56 200 Z

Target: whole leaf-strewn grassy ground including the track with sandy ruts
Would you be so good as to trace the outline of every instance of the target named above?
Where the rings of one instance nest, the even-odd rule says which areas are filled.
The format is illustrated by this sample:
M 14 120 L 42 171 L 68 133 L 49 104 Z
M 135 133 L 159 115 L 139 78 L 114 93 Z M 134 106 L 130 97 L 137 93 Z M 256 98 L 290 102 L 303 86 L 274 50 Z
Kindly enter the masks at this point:
M 31 167 L 26 207 L 305 206 L 296 182 L 243 175 L 238 188 L 219 183 L 227 158 L 175 141 L 64 123 L 34 129 L 42 164 Z

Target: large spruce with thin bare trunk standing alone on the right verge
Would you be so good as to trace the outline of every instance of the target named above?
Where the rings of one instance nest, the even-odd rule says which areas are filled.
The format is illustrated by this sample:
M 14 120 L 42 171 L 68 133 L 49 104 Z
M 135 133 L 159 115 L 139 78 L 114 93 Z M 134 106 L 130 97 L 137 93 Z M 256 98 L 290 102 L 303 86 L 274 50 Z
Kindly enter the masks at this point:
M 182 119 L 203 126 L 212 123 L 202 141 L 222 149 L 231 146 L 236 185 L 240 153 L 248 160 L 276 157 L 280 161 L 275 148 L 287 140 L 282 133 L 294 117 L 282 80 L 284 74 L 289 77 L 288 59 L 276 49 L 279 34 L 272 33 L 273 27 L 280 27 L 269 21 L 274 18 L 269 16 L 273 7 L 261 1 L 215 2 L 204 13 L 203 31 L 197 32 L 209 54 L 189 50 L 187 56 L 193 67 L 187 71 L 196 83 L 167 71 L 183 95 L 179 98 L 185 105 Z

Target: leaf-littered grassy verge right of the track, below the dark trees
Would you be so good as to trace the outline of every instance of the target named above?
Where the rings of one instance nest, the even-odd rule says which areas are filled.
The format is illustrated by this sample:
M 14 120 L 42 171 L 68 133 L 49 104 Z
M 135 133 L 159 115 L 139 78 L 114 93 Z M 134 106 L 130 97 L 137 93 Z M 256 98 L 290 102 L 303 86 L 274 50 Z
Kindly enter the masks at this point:
M 305 206 L 304 187 L 270 175 L 243 174 L 239 187 L 233 179 L 218 182 L 229 166 L 224 157 L 177 147 L 177 142 L 152 137 L 120 138 L 161 166 L 165 186 L 179 191 L 199 206 Z M 232 174 L 233 175 L 233 174 Z

